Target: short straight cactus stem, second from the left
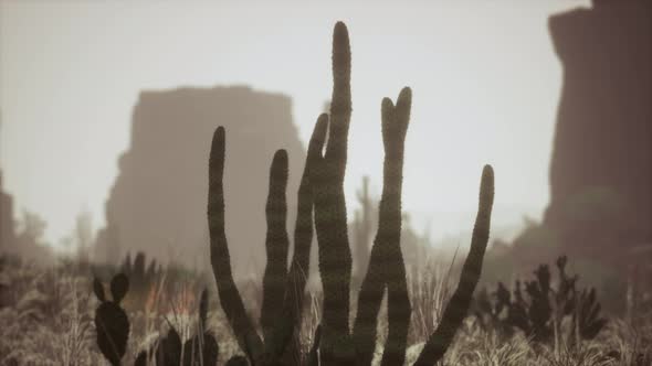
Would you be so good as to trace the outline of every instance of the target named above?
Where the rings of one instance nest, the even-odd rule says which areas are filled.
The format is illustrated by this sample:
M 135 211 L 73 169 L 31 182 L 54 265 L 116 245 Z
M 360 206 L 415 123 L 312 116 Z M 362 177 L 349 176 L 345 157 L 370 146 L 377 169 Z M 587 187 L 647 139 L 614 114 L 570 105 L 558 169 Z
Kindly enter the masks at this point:
M 278 150 L 274 154 L 270 170 L 270 192 L 265 216 L 267 237 L 265 248 L 267 265 L 263 274 L 263 303 L 261 306 L 261 326 L 265 343 L 272 338 L 272 329 L 283 306 L 285 278 L 287 276 L 287 152 Z

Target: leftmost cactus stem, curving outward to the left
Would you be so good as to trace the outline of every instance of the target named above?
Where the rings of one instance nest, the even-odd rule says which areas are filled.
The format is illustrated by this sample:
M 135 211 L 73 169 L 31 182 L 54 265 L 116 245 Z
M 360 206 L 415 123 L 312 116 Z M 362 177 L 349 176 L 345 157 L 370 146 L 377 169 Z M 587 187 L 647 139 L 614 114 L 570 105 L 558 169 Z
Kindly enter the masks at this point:
M 233 281 L 227 235 L 224 233 L 224 128 L 219 127 L 211 144 L 209 159 L 208 222 L 210 233 L 210 258 L 218 284 L 220 303 L 242 349 L 249 347 L 250 357 L 262 353 L 263 343 L 246 312 Z M 248 345 L 250 343 L 250 345 Z

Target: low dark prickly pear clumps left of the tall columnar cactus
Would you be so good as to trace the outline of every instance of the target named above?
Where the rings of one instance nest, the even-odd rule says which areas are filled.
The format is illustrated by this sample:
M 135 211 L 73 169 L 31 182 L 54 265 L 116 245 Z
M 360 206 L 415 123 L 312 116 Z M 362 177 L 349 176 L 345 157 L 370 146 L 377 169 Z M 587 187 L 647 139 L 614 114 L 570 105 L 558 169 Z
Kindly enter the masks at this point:
M 129 338 L 129 319 L 120 306 L 129 289 L 129 280 L 124 273 L 116 274 L 111 281 L 113 300 L 107 300 L 104 286 L 98 279 L 93 281 L 93 291 L 99 300 L 95 311 L 97 346 L 104 357 L 114 366 L 122 365 Z M 199 303 L 199 324 L 197 334 L 182 343 L 181 336 L 172 326 L 153 349 L 141 351 L 134 363 L 146 366 L 153 360 L 157 366 L 203 366 L 215 365 L 219 346 L 214 336 L 208 332 L 208 291 L 201 293 Z

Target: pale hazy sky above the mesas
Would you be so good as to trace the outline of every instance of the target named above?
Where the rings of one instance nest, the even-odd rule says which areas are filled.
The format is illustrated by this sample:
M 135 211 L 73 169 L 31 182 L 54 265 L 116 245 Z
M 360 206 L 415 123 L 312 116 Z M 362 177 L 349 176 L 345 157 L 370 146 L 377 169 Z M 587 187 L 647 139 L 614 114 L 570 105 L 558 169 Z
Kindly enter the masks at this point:
M 380 192 L 380 100 L 413 90 L 403 208 L 434 237 L 471 229 L 484 163 L 494 228 L 540 217 L 561 69 L 547 31 L 588 1 L 0 0 L 0 166 L 52 243 L 104 203 L 144 89 L 251 85 L 293 98 L 307 141 L 330 96 L 330 36 L 351 36 L 349 207 L 365 174 Z M 209 137 L 207 137 L 208 139 Z

